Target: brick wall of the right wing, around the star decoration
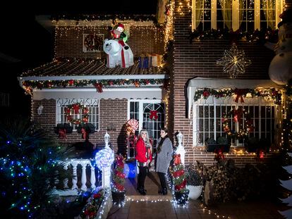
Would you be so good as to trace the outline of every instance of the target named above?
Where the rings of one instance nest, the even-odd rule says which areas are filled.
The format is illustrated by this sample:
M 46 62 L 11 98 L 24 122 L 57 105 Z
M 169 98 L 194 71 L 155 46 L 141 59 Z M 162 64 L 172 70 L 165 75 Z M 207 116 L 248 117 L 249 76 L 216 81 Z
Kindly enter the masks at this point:
M 178 4 L 183 3 L 182 11 L 184 15 L 178 13 Z M 191 3 L 190 3 L 191 4 Z M 193 126 L 190 120 L 185 118 L 185 95 L 184 87 L 188 79 L 192 77 L 215 77 L 229 78 L 229 75 L 223 73 L 223 67 L 216 65 L 216 61 L 224 54 L 224 49 L 229 49 L 231 44 L 227 40 L 201 40 L 190 43 L 188 39 L 191 31 L 191 13 L 188 12 L 185 1 L 175 0 L 174 12 L 174 71 L 173 71 L 173 96 L 171 104 L 174 108 L 174 132 L 180 130 L 185 136 L 185 142 L 188 146 L 186 162 L 193 162 L 196 159 L 206 161 L 211 164 L 214 161 L 214 154 L 197 152 L 192 149 L 193 146 Z M 274 56 L 273 51 L 265 48 L 263 45 L 249 43 L 245 41 L 237 42 L 238 49 L 243 49 L 246 56 L 252 61 L 252 64 L 246 68 L 246 73 L 238 75 L 239 79 L 269 79 L 269 63 Z M 201 152 L 200 152 L 201 153 Z M 233 157 L 233 156 L 231 156 Z M 236 162 L 252 162 L 253 158 L 249 156 L 237 157 Z

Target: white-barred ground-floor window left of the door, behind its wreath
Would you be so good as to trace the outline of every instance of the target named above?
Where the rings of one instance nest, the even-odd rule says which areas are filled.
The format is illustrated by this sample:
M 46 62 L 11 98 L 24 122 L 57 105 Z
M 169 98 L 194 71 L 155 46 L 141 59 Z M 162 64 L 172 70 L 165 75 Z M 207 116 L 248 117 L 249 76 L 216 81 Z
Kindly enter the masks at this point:
M 88 123 L 92 123 L 95 126 L 95 130 L 99 130 L 99 100 L 98 99 L 58 99 L 56 100 L 56 124 L 68 123 L 65 108 L 71 104 L 83 104 L 89 109 Z M 73 113 L 73 118 L 82 118 L 83 113 Z M 73 125 L 73 129 L 76 130 L 77 125 Z

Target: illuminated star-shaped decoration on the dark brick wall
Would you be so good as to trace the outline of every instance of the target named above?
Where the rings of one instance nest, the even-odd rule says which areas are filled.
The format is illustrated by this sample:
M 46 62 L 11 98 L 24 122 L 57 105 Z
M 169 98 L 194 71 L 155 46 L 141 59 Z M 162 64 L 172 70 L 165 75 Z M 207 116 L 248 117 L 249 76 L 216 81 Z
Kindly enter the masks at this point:
M 235 43 L 231 49 L 224 51 L 224 56 L 220 58 L 217 65 L 223 65 L 224 73 L 229 73 L 231 78 L 236 78 L 238 74 L 245 73 L 245 66 L 251 64 L 251 61 L 245 57 L 243 50 L 238 50 Z

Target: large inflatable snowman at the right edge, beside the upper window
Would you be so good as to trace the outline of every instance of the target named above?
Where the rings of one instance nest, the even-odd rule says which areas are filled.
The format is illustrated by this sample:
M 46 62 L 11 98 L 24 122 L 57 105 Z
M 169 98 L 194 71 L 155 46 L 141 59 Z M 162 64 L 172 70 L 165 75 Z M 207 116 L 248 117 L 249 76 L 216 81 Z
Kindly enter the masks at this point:
M 269 65 L 269 78 L 278 85 L 286 85 L 292 79 L 292 10 L 284 11 L 278 24 L 278 43 L 266 44 L 276 56 Z

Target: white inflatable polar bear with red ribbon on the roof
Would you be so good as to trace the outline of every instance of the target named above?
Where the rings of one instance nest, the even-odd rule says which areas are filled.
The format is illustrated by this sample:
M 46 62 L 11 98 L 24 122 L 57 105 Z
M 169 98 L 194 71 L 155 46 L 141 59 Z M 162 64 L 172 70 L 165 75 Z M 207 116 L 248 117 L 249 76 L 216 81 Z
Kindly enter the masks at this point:
M 128 44 L 125 43 L 126 46 Z M 121 68 L 128 68 L 134 64 L 133 52 L 130 46 L 125 49 L 118 43 L 118 39 L 105 39 L 104 52 L 107 54 L 107 67 L 114 68 L 120 65 Z

